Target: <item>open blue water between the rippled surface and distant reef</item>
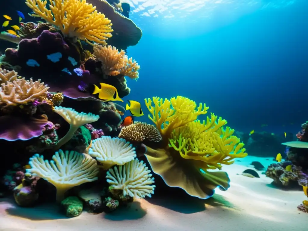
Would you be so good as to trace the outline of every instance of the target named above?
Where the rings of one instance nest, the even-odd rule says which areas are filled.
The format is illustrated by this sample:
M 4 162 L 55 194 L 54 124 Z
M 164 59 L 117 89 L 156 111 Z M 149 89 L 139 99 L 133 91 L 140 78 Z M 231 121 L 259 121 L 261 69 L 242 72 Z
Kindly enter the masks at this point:
M 296 133 L 308 118 L 307 9 L 305 1 L 260 6 L 229 14 L 230 22 L 195 16 L 190 27 L 189 20 L 153 25 L 144 18 L 140 43 L 128 48 L 140 78 L 128 80 L 126 98 L 183 95 L 206 103 L 237 130 Z

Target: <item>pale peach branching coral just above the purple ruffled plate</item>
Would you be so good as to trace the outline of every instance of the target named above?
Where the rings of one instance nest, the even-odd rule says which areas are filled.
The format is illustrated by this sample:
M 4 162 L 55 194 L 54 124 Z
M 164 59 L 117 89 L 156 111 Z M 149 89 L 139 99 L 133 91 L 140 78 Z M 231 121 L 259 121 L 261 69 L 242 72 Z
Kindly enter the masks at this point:
M 14 76 L 12 78 L 15 78 Z M 25 78 L 7 81 L 1 84 L 0 101 L 7 105 L 18 105 L 33 102 L 35 99 L 40 99 L 46 95 L 49 87 L 41 83 L 41 80 L 30 81 Z

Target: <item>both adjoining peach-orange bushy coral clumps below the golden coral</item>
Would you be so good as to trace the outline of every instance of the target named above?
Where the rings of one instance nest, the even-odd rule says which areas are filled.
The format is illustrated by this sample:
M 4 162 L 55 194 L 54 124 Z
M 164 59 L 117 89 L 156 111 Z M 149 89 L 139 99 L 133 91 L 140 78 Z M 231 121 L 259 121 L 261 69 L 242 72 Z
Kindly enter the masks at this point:
M 105 75 L 124 75 L 131 79 L 139 78 L 140 66 L 125 55 L 125 51 L 120 52 L 115 47 L 95 45 L 93 47 L 93 55 L 102 62 L 102 71 Z

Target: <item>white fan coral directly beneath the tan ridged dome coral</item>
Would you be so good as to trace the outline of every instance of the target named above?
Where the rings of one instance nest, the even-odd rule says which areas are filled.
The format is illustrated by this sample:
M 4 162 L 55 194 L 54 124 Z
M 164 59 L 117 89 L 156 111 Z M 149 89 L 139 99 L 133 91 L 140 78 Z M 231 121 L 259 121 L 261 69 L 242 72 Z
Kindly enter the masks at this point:
M 136 157 L 135 148 L 124 139 L 102 136 L 92 140 L 89 155 L 95 157 L 107 170 L 113 165 L 123 165 Z

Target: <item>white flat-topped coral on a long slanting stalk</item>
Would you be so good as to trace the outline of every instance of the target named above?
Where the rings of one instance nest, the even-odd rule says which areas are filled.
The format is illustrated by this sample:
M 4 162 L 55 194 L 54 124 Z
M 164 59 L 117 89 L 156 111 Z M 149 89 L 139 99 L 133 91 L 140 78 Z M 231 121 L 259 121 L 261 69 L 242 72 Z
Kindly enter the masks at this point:
M 55 146 L 55 149 L 59 149 L 63 144 L 69 141 L 73 136 L 76 130 L 85 125 L 90 124 L 99 119 L 99 115 L 93 115 L 92 113 L 84 113 L 84 112 L 77 112 L 72 108 L 68 107 L 55 107 L 54 111 L 61 115 L 62 118 L 70 124 L 70 129 L 68 132 L 63 136 L 58 144 Z

